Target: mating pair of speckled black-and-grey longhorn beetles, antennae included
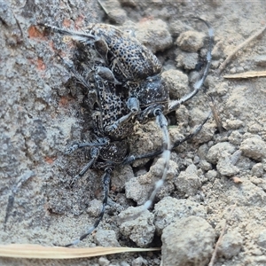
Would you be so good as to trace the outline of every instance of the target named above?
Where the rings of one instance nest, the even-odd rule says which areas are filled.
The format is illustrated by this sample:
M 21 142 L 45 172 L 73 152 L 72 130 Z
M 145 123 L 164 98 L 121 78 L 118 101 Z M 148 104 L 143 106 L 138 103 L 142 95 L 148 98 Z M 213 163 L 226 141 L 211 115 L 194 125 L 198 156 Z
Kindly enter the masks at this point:
M 201 20 L 201 19 L 199 19 Z M 105 171 L 103 177 L 104 200 L 101 213 L 97 221 L 79 239 L 66 245 L 72 246 L 86 238 L 94 231 L 105 213 L 111 172 L 116 165 L 130 163 L 134 160 L 152 158 L 163 154 L 165 160 L 163 175 L 155 185 L 150 199 L 145 202 L 144 209 L 152 206 L 156 192 L 160 189 L 168 171 L 170 151 L 185 140 L 193 137 L 202 128 L 207 119 L 198 129 L 184 139 L 170 145 L 168 136 L 168 121 L 166 114 L 175 111 L 180 105 L 193 98 L 204 83 L 211 64 L 211 51 L 213 46 L 213 29 L 208 27 L 209 44 L 207 51 L 207 66 L 200 81 L 193 85 L 193 90 L 179 100 L 170 100 L 168 97 L 168 85 L 160 75 L 161 66 L 159 60 L 144 45 L 128 33 L 121 32 L 118 28 L 106 24 L 91 24 L 82 32 L 43 25 L 50 31 L 61 35 L 70 35 L 81 45 L 83 51 L 97 51 L 100 59 L 90 57 L 84 59 L 83 66 L 89 66 L 89 72 L 93 75 L 93 81 L 88 80 L 88 69 L 80 74 L 74 66 L 65 62 L 75 78 L 95 94 L 95 103 L 90 105 L 93 117 L 94 133 L 96 141 L 72 146 L 67 153 L 72 153 L 78 148 L 90 146 L 90 162 L 82 168 L 82 171 L 74 177 L 74 180 L 82 176 L 89 168 L 99 168 Z M 79 63 L 79 62 L 75 62 Z M 90 67 L 90 65 L 93 65 Z M 84 75 L 85 74 L 85 75 Z M 110 110 L 112 112 L 110 113 Z M 160 151 L 142 155 L 129 155 L 127 149 L 127 137 L 133 132 L 135 121 L 145 123 L 154 117 L 163 133 L 163 145 Z

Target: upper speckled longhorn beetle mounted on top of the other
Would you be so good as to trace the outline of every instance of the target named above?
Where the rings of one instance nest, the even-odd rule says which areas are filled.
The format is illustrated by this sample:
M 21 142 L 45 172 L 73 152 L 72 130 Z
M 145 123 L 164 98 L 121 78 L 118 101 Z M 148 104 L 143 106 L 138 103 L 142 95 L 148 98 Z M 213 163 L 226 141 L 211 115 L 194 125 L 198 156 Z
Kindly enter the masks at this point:
M 129 98 L 137 99 L 139 105 L 137 121 L 145 123 L 153 117 L 157 117 L 160 128 L 163 128 L 165 127 L 163 123 L 167 123 L 166 118 L 163 117 L 164 114 L 175 111 L 180 105 L 193 98 L 207 78 L 211 64 L 214 32 L 207 21 L 200 18 L 195 19 L 203 21 L 208 28 L 207 66 L 200 81 L 193 85 L 192 92 L 179 100 L 169 99 L 168 85 L 160 75 L 160 61 L 152 51 L 149 51 L 129 33 L 123 33 L 117 27 L 107 24 L 90 24 L 81 32 L 47 24 L 40 25 L 51 32 L 70 35 L 74 40 L 83 43 L 83 47 L 92 47 L 97 51 L 98 55 L 106 62 L 106 67 L 102 68 L 99 75 L 104 79 L 111 75 L 113 82 L 118 81 L 123 88 L 129 90 Z M 167 139 L 165 130 L 163 130 L 163 134 Z

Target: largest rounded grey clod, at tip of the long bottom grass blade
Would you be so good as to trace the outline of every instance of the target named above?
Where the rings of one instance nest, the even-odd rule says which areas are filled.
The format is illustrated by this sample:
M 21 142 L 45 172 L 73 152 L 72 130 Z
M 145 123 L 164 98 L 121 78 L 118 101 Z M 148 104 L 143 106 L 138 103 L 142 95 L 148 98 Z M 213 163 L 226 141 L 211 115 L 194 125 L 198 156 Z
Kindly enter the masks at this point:
M 202 218 L 190 216 L 162 231 L 162 265 L 205 266 L 213 252 L 215 230 Z

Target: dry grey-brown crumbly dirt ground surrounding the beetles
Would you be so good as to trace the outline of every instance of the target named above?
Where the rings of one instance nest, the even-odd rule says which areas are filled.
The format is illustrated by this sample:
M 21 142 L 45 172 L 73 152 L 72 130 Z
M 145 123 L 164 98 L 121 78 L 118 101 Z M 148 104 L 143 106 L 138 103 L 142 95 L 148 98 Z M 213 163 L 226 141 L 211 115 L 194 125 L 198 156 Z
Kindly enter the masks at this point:
M 101 171 L 90 170 L 69 185 L 89 155 L 81 150 L 66 156 L 64 151 L 86 140 L 90 121 L 71 74 L 56 56 L 58 51 L 69 55 L 68 41 L 44 35 L 37 22 L 75 29 L 104 22 L 133 29 L 160 59 L 172 85 L 170 98 L 176 99 L 199 79 L 197 66 L 206 65 L 207 27 L 192 17 L 207 20 L 215 32 L 207 81 L 168 117 L 169 132 L 174 143 L 196 129 L 210 111 L 211 98 L 223 130 L 212 117 L 199 135 L 172 151 L 155 207 L 133 221 L 125 218 L 148 199 L 163 159 L 116 168 L 103 222 L 79 244 L 161 246 L 161 252 L 65 261 L 0 258 L 0 265 L 207 265 L 225 221 L 214 265 L 265 265 L 266 78 L 223 75 L 265 71 L 266 32 L 218 71 L 231 51 L 265 27 L 265 1 L 103 4 L 109 16 L 93 0 L 0 0 L 0 244 L 67 244 L 90 228 L 103 197 Z M 196 43 L 189 51 L 178 39 L 188 31 Z M 199 48 L 197 38 L 204 41 Z M 136 124 L 130 153 L 154 151 L 161 140 L 154 121 Z

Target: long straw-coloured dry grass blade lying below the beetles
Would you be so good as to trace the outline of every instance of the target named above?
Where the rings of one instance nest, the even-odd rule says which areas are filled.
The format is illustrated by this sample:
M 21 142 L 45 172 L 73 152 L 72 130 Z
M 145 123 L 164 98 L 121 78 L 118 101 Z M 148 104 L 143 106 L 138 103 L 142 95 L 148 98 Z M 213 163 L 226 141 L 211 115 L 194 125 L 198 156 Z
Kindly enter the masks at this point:
M 0 257 L 27 258 L 27 259 L 74 259 L 90 258 L 106 254 L 124 252 L 147 252 L 160 250 L 159 247 L 132 248 L 132 247 L 82 247 L 69 248 L 62 246 L 39 246 L 30 244 L 0 245 Z

